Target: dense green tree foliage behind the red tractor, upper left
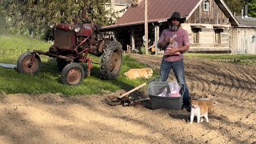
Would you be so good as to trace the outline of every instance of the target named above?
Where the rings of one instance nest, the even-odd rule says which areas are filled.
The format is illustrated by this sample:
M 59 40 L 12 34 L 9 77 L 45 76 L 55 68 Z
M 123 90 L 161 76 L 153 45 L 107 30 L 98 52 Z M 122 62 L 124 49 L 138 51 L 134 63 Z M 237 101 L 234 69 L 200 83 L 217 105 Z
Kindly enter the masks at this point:
M 108 0 L 87 0 L 87 15 L 94 22 L 106 26 L 113 22 L 110 10 L 106 10 Z M 83 6 L 82 0 L 2 0 L 3 14 L 8 30 L 15 34 L 33 35 L 45 38 L 49 34 L 51 22 L 72 23 Z

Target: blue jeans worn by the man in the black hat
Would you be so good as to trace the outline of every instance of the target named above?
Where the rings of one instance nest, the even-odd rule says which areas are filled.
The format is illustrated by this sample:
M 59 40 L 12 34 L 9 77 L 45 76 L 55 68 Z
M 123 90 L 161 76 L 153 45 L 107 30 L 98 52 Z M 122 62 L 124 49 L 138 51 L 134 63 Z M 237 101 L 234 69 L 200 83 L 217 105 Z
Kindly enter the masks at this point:
M 183 94 L 183 106 L 190 106 L 190 92 L 186 85 L 183 59 L 177 62 L 167 62 L 162 60 L 160 67 L 160 82 L 166 82 L 170 74 L 170 70 L 174 71 L 177 81 L 181 82 L 185 86 L 185 91 Z

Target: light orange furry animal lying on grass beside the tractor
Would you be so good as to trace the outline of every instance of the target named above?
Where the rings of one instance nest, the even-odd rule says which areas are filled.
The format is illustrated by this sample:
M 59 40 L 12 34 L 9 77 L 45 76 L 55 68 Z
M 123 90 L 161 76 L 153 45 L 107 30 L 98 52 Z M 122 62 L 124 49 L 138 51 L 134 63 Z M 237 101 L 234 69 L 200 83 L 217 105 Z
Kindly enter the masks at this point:
M 130 69 L 125 73 L 125 76 L 130 79 L 135 78 L 150 78 L 153 76 L 153 70 L 150 68 Z

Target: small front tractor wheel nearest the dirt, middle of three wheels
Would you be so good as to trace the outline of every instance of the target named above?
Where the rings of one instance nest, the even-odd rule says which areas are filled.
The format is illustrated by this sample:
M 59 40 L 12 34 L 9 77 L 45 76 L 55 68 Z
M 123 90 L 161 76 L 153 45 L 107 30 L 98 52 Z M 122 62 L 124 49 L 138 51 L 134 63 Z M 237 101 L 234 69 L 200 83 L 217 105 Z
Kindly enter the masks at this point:
M 75 62 L 66 65 L 62 70 L 62 83 L 70 86 L 78 86 L 83 78 L 85 78 L 85 70 L 83 67 Z

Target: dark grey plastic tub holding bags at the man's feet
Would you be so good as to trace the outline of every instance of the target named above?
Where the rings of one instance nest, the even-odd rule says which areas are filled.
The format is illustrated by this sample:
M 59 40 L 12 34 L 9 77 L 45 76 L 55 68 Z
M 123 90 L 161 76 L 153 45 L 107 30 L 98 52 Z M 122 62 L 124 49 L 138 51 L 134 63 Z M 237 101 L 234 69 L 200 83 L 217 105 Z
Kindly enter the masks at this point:
M 149 85 L 149 95 L 150 95 L 150 104 L 152 109 L 164 108 L 168 110 L 181 110 L 183 103 L 183 94 L 185 86 L 178 82 L 178 85 L 181 87 L 179 93 L 181 97 L 164 97 L 158 96 L 162 91 L 167 88 L 167 94 L 170 93 L 169 82 L 150 82 Z

